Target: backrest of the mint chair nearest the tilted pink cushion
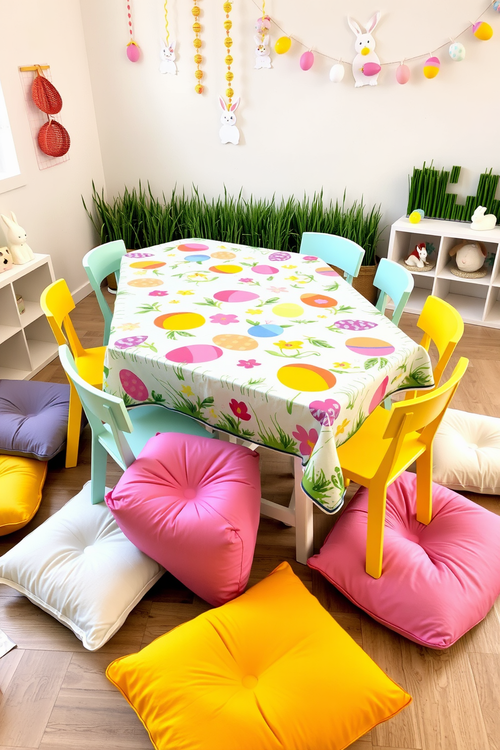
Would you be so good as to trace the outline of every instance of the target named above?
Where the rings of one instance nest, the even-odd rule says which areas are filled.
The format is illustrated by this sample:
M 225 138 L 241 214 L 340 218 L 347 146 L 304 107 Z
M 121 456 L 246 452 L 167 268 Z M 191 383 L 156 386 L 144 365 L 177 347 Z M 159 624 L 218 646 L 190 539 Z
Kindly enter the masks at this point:
M 105 435 L 106 449 L 112 449 L 113 458 L 118 459 L 118 463 L 123 463 L 123 467 L 130 466 L 135 460 L 130 446 L 125 440 L 123 433 L 133 431 L 132 422 L 128 416 L 127 409 L 123 399 L 104 393 L 94 386 L 85 383 L 82 377 L 76 371 L 75 361 L 71 356 L 70 350 L 66 344 L 59 347 L 59 359 L 67 375 L 67 379 L 73 384 L 82 402 L 83 410 L 87 416 L 88 422 L 92 428 L 94 437 L 99 438 Z M 103 427 L 103 422 L 109 425 L 114 445 L 109 446 L 109 432 Z M 116 452 L 116 455 L 115 455 Z

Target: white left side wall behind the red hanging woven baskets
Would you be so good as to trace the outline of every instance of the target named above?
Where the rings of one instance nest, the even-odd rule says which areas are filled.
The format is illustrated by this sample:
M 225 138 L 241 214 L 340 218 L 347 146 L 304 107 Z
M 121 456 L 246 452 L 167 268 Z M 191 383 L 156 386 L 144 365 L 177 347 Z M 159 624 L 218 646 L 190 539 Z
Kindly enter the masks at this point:
M 103 184 L 79 0 L 0 0 L 0 80 L 13 131 L 24 187 L 0 193 L 0 212 L 14 211 L 28 244 L 52 256 L 56 278 L 64 277 L 79 298 L 88 293 L 83 255 L 95 244 L 82 207 L 91 180 Z M 38 169 L 19 79 L 19 65 L 50 65 L 61 94 L 70 160 Z M 0 244 L 4 235 L 0 229 Z M 78 292 L 79 290 L 79 292 Z

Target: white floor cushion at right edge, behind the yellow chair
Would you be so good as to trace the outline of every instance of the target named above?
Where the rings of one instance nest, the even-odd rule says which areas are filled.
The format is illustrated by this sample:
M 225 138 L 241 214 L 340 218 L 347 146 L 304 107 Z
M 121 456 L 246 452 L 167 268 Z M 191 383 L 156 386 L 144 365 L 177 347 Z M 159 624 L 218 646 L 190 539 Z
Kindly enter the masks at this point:
M 500 419 L 448 409 L 434 440 L 433 480 L 500 494 Z

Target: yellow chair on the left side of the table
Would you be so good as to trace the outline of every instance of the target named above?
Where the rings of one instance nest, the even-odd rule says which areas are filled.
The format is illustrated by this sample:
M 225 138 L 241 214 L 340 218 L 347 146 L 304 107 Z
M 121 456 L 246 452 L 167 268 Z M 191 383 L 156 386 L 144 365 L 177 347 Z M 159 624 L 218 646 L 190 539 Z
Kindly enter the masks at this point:
M 84 349 L 76 335 L 70 312 L 75 303 L 64 279 L 58 279 L 46 287 L 40 297 L 40 305 L 59 346 L 70 345 L 80 377 L 95 388 L 103 386 L 103 366 L 106 347 Z M 63 330 L 64 327 L 64 330 Z M 65 332 L 65 334 L 64 334 Z M 76 466 L 78 462 L 78 445 L 82 422 L 82 404 L 76 389 L 70 382 L 70 412 L 67 420 L 66 468 Z

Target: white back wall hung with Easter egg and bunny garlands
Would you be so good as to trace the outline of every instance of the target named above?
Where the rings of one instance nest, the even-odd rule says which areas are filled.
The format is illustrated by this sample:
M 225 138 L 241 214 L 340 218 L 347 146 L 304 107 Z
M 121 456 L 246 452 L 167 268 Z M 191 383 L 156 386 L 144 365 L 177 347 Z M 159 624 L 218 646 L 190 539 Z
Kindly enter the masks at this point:
M 460 40 L 466 60 L 452 62 L 448 37 L 458 34 L 484 10 L 484 0 L 387 0 L 376 29 L 381 61 L 438 52 L 442 68 L 435 80 L 421 72 L 424 60 L 409 62 L 412 80 L 400 86 L 396 66 L 383 68 L 379 86 L 354 89 L 350 65 L 340 85 L 330 83 L 332 61 L 316 55 L 313 69 L 300 70 L 304 48 L 293 43 L 287 55 L 273 53 L 274 70 L 253 70 L 252 0 L 235 0 L 234 88 L 241 95 L 241 145 L 218 139 L 217 95 L 225 90 L 222 0 L 201 0 L 203 70 L 206 93 L 196 95 L 193 77 L 193 17 L 187 0 L 170 1 L 170 29 L 178 38 L 178 76 L 160 75 L 158 38 L 163 2 L 133 0 L 139 63 L 125 56 L 127 26 L 123 0 L 82 0 L 92 90 L 108 192 L 149 180 L 155 191 L 193 182 L 208 195 L 223 184 L 258 196 L 311 193 L 325 188 L 328 198 L 364 195 L 382 203 L 384 223 L 406 210 L 408 174 L 434 158 L 436 165 L 458 163 L 460 190 L 475 190 L 485 167 L 500 168 L 496 148 L 499 121 L 498 48 L 500 17 L 484 16 L 495 29 L 489 42 L 468 31 Z M 307 12 L 306 10 L 307 9 Z M 373 0 L 268 0 L 266 10 L 290 34 L 352 61 L 351 13 L 368 20 Z M 277 29 L 272 31 L 276 40 Z M 468 171 L 467 171 L 468 170 Z M 469 184 L 470 183 L 470 184 Z M 386 233 L 387 236 L 387 233 Z

